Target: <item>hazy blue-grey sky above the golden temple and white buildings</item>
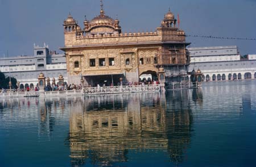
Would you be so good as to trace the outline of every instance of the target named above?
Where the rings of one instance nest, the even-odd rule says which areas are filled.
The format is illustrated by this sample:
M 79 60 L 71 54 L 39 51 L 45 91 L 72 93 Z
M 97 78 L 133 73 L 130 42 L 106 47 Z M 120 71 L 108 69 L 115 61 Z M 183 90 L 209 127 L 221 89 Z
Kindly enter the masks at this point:
M 120 20 L 123 32 L 154 31 L 168 7 L 187 35 L 256 38 L 256 0 L 105 0 L 105 13 Z M 64 46 L 63 21 L 71 12 L 83 28 L 84 15 L 100 14 L 100 0 L 0 0 L 0 56 L 33 55 L 33 45 Z M 191 47 L 237 45 L 256 54 L 255 40 L 187 37 Z

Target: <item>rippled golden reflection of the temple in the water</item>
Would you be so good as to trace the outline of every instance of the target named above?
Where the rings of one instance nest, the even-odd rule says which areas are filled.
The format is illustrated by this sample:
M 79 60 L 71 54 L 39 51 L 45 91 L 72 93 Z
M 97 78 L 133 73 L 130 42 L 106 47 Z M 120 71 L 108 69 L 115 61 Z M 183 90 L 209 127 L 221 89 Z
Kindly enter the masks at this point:
M 131 150 L 148 149 L 168 152 L 175 164 L 183 162 L 192 136 L 190 102 L 187 92 L 85 97 L 72 106 L 67 139 L 72 166 L 111 166 L 128 161 Z

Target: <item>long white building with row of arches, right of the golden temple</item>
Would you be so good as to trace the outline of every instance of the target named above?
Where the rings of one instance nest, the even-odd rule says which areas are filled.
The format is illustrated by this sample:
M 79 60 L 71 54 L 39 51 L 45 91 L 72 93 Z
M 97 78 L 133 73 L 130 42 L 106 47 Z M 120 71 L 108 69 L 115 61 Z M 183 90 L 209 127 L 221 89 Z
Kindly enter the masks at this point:
M 256 78 L 256 55 L 241 57 L 237 46 L 188 48 L 189 71 L 200 69 L 204 81 Z

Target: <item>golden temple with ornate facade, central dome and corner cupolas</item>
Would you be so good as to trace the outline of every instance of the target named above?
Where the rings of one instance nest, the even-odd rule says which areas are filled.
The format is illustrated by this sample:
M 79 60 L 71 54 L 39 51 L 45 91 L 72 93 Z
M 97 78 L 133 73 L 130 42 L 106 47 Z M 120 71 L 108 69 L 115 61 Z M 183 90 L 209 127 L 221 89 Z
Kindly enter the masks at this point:
M 189 62 L 185 33 L 176 27 L 171 11 L 155 32 L 122 33 L 119 20 L 105 15 L 102 3 L 100 15 L 85 19 L 83 30 L 70 14 L 63 26 L 65 47 L 61 49 L 67 55 L 69 83 L 80 83 L 84 77 L 89 84 L 94 76 L 100 80 L 106 75 L 138 82 L 142 74 L 157 76 L 160 66 Z

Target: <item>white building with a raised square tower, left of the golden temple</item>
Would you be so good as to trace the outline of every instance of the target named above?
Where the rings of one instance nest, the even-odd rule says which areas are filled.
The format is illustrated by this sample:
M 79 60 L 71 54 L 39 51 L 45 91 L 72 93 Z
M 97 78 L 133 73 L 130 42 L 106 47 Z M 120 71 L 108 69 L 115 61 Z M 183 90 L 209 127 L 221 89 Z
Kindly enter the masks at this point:
M 44 73 L 50 81 L 54 77 L 57 82 L 60 74 L 67 81 L 67 64 L 64 54 L 51 52 L 48 46 L 34 45 L 34 56 L 15 56 L 0 58 L 0 71 L 5 76 L 16 78 L 20 82 L 20 88 L 35 86 L 38 83 L 38 76 Z

